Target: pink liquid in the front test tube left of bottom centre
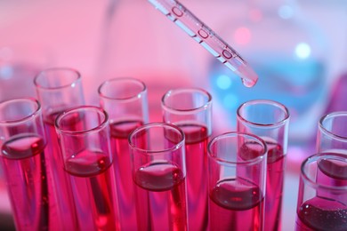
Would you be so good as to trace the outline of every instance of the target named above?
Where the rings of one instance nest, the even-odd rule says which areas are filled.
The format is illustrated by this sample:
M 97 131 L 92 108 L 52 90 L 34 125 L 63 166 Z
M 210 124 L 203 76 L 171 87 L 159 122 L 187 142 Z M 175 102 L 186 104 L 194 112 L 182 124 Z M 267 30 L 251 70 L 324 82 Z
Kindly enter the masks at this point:
M 187 230 L 185 178 L 171 163 L 152 163 L 134 174 L 139 230 Z

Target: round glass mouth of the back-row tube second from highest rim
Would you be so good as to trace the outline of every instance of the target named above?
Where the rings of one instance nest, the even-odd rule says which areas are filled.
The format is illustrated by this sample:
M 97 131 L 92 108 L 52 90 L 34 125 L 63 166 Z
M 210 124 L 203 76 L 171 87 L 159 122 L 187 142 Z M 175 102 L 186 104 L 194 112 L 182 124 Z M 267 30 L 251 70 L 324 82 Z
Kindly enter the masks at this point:
M 98 88 L 99 96 L 108 100 L 136 100 L 147 92 L 147 86 L 133 77 L 112 78 Z

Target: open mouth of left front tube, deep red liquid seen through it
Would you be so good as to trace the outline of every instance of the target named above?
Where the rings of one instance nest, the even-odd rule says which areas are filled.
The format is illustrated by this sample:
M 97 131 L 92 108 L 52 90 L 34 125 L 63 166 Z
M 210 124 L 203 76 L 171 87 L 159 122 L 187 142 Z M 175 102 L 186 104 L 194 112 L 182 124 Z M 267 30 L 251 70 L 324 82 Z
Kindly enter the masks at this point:
M 96 106 L 78 106 L 69 108 L 57 116 L 55 128 L 66 134 L 84 134 L 101 131 L 108 125 L 109 115 L 105 110 Z M 71 124 L 80 124 L 80 127 Z

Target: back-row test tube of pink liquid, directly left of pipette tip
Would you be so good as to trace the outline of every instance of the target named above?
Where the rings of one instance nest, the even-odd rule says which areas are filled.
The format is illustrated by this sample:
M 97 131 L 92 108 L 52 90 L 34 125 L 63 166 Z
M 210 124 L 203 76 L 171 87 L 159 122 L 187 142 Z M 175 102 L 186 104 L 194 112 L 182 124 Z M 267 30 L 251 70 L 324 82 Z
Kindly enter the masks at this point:
M 185 135 L 190 230 L 208 227 L 207 142 L 212 133 L 212 97 L 198 88 L 178 88 L 162 98 L 163 120 Z

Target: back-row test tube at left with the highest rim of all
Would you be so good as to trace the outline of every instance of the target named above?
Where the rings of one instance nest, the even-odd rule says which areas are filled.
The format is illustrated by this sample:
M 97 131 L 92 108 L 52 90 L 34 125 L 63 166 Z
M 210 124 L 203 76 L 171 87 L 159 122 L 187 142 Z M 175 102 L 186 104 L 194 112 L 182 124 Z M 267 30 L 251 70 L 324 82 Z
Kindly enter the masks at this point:
M 67 230 L 78 228 L 77 215 L 67 173 L 63 170 L 61 150 L 54 121 L 64 110 L 85 104 L 81 75 L 71 68 L 48 68 L 34 79 L 36 95 L 42 105 L 44 128 L 47 134 L 47 161 L 52 165 L 52 184 L 59 200 L 61 225 Z

